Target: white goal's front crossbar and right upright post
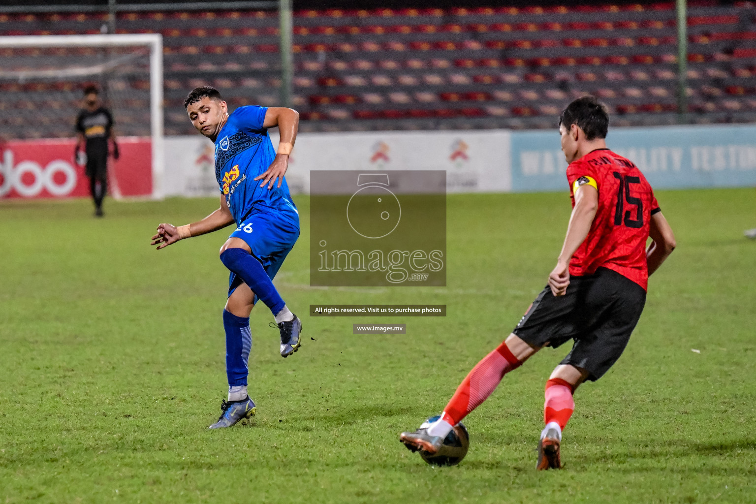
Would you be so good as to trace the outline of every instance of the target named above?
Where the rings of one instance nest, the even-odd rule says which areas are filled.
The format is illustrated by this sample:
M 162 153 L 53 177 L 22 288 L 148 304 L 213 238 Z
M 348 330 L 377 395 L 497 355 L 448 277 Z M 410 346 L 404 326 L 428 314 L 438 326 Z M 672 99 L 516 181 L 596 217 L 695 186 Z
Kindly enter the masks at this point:
M 128 47 L 150 49 L 150 135 L 152 150 L 152 196 L 165 194 L 165 152 L 163 148 L 163 36 L 159 33 L 114 35 L 0 36 L 0 48 Z

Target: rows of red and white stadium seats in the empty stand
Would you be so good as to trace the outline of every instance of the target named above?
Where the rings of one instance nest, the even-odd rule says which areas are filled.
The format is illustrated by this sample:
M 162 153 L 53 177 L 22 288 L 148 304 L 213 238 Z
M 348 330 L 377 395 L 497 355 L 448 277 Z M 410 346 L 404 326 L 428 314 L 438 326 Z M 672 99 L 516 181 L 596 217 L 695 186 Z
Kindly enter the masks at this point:
M 103 23 L 103 14 L 0 14 L 0 34 L 95 33 Z M 689 120 L 756 120 L 754 4 L 689 2 L 688 25 Z M 672 124 L 675 26 L 674 2 L 299 11 L 293 101 L 305 131 L 549 128 L 567 100 L 587 93 L 614 125 Z M 119 14 L 117 27 L 164 37 L 166 134 L 193 132 L 182 97 L 196 85 L 214 85 L 234 106 L 279 101 L 274 12 L 135 12 Z M 23 110 L 54 104 L 64 116 L 79 88 L 23 91 L 8 100 Z M 45 135 L 70 135 L 68 125 L 54 128 Z

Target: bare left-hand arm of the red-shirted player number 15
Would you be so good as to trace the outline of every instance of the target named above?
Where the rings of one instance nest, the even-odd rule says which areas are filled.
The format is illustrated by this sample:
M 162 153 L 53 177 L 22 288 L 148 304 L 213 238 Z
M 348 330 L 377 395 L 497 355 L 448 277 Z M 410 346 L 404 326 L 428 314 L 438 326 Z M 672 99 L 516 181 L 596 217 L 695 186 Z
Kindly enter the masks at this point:
M 556 261 L 556 267 L 549 275 L 549 286 L 553 295 L 565 295 L 569 286 L 569 261 L 575 250 L 581 246 L 590 231 L 590 224 L 596 217 L 599 208 L 599 191 L 595 187 L 584 184 L 575 191 L 575 208 L 569 218 L 567 236 L 562 245 L 562 252 Z

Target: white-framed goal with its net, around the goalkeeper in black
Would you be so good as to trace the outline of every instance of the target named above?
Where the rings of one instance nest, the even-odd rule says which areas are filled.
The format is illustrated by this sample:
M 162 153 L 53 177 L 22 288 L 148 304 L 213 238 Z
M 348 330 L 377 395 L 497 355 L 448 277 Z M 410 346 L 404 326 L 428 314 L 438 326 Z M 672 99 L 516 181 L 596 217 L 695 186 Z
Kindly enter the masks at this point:
M 0 141 L 7 145 L 29 139 L 73 138 L 82 92 L 95 85 L 104 107 L 113 115 L 120 150 L 126 147 L 133 157 L 136 150 L 130 150 L 129 143 L 141 142 L 139 155 L 150 158 L 141 159 L 151 167 L 151 174 L 146 172 L 152 178 L 150 196 L 163 196 L 160 35 L 0 36 L 0 60 Z M 73 156 L 73 149 L 71 153 Z M 123 162 L 117 165 L 118 170 L 111 166 L 108 173 L 110 193 L 116 198 L 124 192 L 124 178 L 135 176 L 122 173 Z M 0 185 L 8 189 L 13 167 L 8 162 L 0 166 L 5 170 L 5 182 Z M 40 172 L 45 178 L 43 168 Z M 16 185 L 23 187 L 19 181 Z

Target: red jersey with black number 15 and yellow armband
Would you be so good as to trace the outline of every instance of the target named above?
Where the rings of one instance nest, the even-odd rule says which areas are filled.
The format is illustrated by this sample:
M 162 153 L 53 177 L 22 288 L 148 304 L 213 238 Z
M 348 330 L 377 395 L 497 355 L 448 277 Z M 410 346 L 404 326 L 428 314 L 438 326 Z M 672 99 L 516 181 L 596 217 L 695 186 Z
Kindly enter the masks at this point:
M 609 149 L 596 149 L 567 167 L 572 207 L 575 191 L 590 184 L 599 191 L 599 208 L 572 261 L 569 274 L 590 275 L 608 267 L 646 289 L 649 269 L 646 241 L 651 215 L 659 212 L 653 190 L 628 159 Z

